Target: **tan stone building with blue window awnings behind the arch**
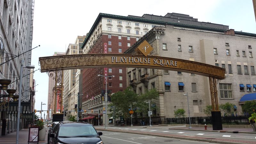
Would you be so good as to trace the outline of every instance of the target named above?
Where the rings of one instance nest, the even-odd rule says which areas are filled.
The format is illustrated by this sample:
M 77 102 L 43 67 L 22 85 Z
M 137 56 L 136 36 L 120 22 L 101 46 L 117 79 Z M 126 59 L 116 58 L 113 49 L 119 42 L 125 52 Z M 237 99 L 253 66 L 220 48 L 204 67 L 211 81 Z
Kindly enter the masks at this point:
M 154 48 L 153 55 L 202 62 L 226 68 L 226 79 L 218 85 L 219 104 L 234 104 L 242 114 L 239 100 L 244 94 L 256 92 L 256 34 L 184 25 L 155 27 L 124 53 L 132 53 L 144 40 Z M 154 118 L 174 117 L 174 110 L 183 108 L 188 116 L 204 116 L 211 105 L 209 78 L 191 73 L 162 69 L 127 68 L 127 85 L 136 93 L 156 88 L 159 107 Z M 188 92 L 187 97 L 183 96 Z

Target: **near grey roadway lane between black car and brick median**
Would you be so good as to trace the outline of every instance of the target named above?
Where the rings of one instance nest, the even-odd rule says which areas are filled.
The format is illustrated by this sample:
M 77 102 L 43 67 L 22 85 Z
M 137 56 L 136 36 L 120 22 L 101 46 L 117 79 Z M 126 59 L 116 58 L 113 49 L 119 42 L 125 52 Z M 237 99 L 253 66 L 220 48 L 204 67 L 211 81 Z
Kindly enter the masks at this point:
M 198 141 L 104 131 L 100 136 L 104 144 L 198 144 Z M 200 142 L 210 144 L 209 142 Z

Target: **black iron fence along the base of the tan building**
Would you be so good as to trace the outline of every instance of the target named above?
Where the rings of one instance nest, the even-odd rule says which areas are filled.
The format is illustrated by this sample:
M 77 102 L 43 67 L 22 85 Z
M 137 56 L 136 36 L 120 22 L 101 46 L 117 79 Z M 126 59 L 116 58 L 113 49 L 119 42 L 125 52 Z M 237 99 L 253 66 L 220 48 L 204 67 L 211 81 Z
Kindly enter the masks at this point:
M 222 116 L 222 124 L 239 125 L 250 124 L 248 120 L 249 116 Z M 212 124 L 212 116 L 198 116 L 190 117 L 191 124 Z M 189 124 L 188 117 L 182 118 L 159 118 L 158 124 Z

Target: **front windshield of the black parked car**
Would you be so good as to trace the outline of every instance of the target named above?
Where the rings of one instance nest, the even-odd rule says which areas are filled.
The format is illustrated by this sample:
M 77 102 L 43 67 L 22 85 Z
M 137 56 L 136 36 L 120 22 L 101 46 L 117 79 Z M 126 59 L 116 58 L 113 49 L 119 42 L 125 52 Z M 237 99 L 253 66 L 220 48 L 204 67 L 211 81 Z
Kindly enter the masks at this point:
M 59 137 L 96 137 L 98 133 L 92 125 L 62 125 L 59 130 Z

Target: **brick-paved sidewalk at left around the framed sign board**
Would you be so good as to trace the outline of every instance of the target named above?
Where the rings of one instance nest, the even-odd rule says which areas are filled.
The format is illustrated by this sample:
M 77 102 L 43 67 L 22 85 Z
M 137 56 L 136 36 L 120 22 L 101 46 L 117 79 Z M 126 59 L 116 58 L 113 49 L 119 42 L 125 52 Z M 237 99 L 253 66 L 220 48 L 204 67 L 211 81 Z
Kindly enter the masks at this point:
M 28 132 L 29 132 L 29 129 L 20 130 L 19 144 L 28 144 Z M 8 133 L 4 136 L 1 136 L 0 144 L 16 144 L 16 132 Z M 47 144 L 47 133 L 44 141 L 39 141 L 39 144 Z

